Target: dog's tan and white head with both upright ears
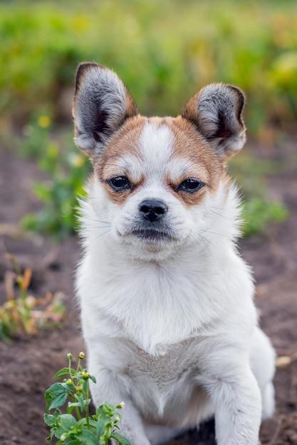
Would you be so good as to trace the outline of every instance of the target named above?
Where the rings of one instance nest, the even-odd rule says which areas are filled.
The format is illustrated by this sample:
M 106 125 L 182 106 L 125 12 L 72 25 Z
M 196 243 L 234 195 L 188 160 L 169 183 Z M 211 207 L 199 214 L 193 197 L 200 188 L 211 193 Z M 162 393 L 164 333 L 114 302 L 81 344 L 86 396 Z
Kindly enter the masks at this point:
M 243 107 L 241 90 L 213 84 L 181 116 L 142 117 L 113 71 L 79 65 L 75 143 L 93 162 L 98 226 L 104 220 L 108 236 L 145 258 L 202 238 L 209 210 L 226 201 L 226 160 L 244 145 Z

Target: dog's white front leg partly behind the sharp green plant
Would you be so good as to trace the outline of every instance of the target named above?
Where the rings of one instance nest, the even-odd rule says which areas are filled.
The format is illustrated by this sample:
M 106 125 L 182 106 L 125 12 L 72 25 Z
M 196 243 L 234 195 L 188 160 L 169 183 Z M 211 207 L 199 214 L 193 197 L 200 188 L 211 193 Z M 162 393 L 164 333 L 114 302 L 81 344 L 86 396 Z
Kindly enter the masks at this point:
M 90 374 L 95 375 L 97 381 L 95 385 L 90 382 L 90 392 L 95 407 L 103 402 L 118 404 L 123 401 L 125 407 L 120 413 L 122 417 L 120 434 L 129 439 L 131 445 L 150 445 L 150 441 L 145 436 L 140 414 L 125 392 L 125 383 L 119 382 L 113 372 L 105 368 L 94 367 L 89 363 L 89 369 Z

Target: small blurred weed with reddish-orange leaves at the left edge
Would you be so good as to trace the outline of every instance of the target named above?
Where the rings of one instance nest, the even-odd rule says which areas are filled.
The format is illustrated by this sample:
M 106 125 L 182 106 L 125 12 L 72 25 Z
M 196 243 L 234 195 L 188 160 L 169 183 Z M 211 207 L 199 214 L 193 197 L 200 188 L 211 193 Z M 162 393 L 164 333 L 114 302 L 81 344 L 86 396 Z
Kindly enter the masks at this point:
M 9 342 L 17 335 L 33 336 L 41 328 L 59 326 L 65 314 L 63 294 L 58 292 L 38 299 L 28 293 L 32 271 L 21 267 L 9 255 L 14 272 L 6 272 L 6 301 L 0 306 L 0 340 Z M 17 287 L 17 294 L 15 292 Z

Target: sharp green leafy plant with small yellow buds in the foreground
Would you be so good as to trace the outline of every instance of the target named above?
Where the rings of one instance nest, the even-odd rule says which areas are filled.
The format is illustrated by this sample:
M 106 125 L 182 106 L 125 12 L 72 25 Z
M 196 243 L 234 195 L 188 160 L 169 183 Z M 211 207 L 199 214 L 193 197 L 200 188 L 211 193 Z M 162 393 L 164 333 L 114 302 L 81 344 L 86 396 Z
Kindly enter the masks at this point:
M 63 378 L 46 390 L 46 414 L 44 422 L 50 427 L 48 441 L 58 439 L 56 445 L 108 445 L 109 439 L 115 439 L 121 445 L 130 445 L 118 430 L 120 424 L 119 409 L 124 403 L 110 405 L 103 403 L 90 414 L 89 380 L 96 383 L 95 377 L 83 368 L 81 360 L 84 353 L 79 353 L 78 364 L 72 368 L 73 355 L 68 354 L 68 367 L 59 370 L 55 378 Z M 63 409 L 66 412 L 62 412 Z

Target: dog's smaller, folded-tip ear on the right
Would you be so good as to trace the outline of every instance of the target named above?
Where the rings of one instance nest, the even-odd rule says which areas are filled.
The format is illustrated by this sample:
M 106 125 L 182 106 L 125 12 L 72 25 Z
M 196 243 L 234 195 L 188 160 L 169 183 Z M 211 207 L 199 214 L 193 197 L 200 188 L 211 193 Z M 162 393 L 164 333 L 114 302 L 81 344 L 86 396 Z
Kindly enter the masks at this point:
M 222 159 L 227 159 L 246 141 L 244 102 L 244 93 L 233 85 L 207 85 L 189 100 L 182 117 L 197 127 Z

